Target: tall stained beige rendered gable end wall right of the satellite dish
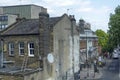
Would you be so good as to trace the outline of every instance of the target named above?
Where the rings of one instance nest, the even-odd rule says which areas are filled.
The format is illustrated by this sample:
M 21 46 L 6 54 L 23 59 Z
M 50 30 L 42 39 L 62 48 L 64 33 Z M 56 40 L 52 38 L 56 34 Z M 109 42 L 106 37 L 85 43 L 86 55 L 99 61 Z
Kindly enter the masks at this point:
M 55 80 L 74 79 L 74 74 L 79 72 L 79 35 L 74 16 L 65 14 L 53 31 Z

